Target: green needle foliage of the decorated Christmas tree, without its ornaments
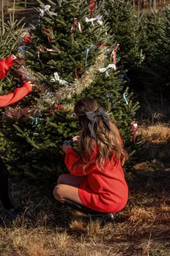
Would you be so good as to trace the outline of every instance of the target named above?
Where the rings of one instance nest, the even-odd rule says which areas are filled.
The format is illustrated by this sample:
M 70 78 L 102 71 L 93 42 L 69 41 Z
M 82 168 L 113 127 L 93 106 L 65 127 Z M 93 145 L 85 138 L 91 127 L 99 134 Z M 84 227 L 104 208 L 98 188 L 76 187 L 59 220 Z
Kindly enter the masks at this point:
M 38 1 L 41 8 L 44 4 Z M 91 72 L 92 65 L 96 65 L 96 59 L 103 54 L 106 55 L 103 67 L 107 67 L 110 62 L 110 53 L 116 46 L 116 40 L 106 33 L 104 25 L 98 25 L 94 22 L 85 22 L 85 17 L 89 17 L 89 5 L 85 0 L 60 1 L 54 3 L 49 1 L 51 5 L 50 11 L 58 13 L 58 16 L 51 16 L 48 11 L 44 17 L 39 19 L 36 26 L 30 29 L 30 40 L 32 44 L 26 45 L 26 65 L 29 67 L 36 77 L 36 83 L 45 86 L 48 91 L 55 92 L 59 88 L 66 88 L 58 81 L 51 82 L 54 73 L 58 72 L 60 79 L 69 82 L 69 86 L 75 82 L 75 67 L 78 66 L 78 77 L 81 77 L 81 65 L 85 65 L 86 49 L 88 46 L 97 46 L 98 44 L 106 44 L 104 47 L 91 47 L 89 50 L 87 67 L 85 67 L 85 76 Z M 37 9 L 39 11 L 39 9 Z M 93 17 L 100 14 L 100 8 L 96 8 Z M 79 32 L 78 25 L 70 31 L 74 18 L 81 22 L 82 33 Z M 45 29 L 52 28 L 48 33 L 50 41 L 47 38 Z M 45 67 L 39 62 L 38 52 L 43 47 L 57 50 L 57 53 L 42 50 L 41 61 L 50 67 Z M 118 52 L 118 60 L 119 60 Z M 100 67 L 100 68 L 103 68 Z M 111 104 L 109 94 L 113 101 Z M 123 94 L 126 94 L 128 104 L 126 104 Z M 138 103 L 132 103 L 132 94 L 128 94 L 126 81 L 119 68 L 114 71 L 109 70 L 109 77 L 106 78 L 105 73 L 98 73 L 94 81 L 81 94 L 73 95 L 72 98 L 66 97 L 60 106 L 72 106 L 82 97 L 93 97 L 102 106 L 105 107 L 107 114 L 116 125 L 120 128 L 123 141 L 129 146 L 132 138 L 131 122 L 134 121 L 135 112 L 138 110 Z M 16 106 L 31 107 L 40 104 L 41 112 L 36 112 L 28 119 L 24 117 L 16 119 L 5 118 L 3 134 L 8 141 L 13 144 L 6 151 L 6 158 L 9 165 L 13 165 L 14 174 L 19 177 L 26 177 L 27 180 L 34 179 L 36 183 L 46 185 L 56 181 L 64 167 L 64 153 L 61 145 L 64 140 L 70 140 L 73 136 L 79 134 L 78 119 L 73 115 L 73 110 L 68 109 L 67 112 L 54 109 L 54 113 L 50 113 L 50 104 L 39 97 L 39 92 L 33 90 L 32 94 L 24 98 Z M 36 108 L 35 108 L 36 109 Z M 11 161 L 13 159 L 13 161 Z

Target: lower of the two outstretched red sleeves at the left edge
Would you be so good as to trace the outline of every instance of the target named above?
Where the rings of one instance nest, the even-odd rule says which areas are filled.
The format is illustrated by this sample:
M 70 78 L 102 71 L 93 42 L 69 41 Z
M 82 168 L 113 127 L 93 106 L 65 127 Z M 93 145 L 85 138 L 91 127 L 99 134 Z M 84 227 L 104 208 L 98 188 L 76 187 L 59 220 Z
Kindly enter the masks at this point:
M 0 107 L 5 107 L 16 103 L 17 101 L 24 98 L 31 91 L 32 86 L 29 83 L 24 83 L 21 88 L 17 88 L 16 91 L 14 91 L 13 93 L 0 96 Z

